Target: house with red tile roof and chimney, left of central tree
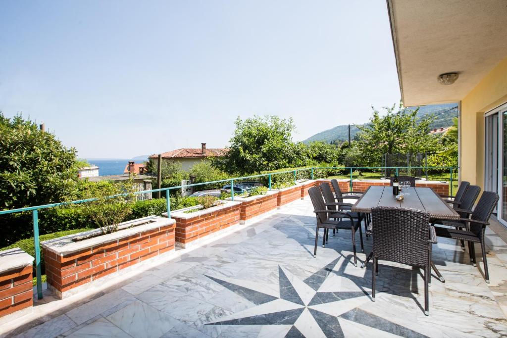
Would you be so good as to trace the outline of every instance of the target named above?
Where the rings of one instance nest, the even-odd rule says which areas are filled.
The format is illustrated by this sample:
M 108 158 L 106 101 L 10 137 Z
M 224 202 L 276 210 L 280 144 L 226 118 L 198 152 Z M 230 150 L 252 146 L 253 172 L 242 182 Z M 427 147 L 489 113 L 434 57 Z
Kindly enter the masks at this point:
M 227 152 L 227 148 L 206 148 L 206 143 L 201 143 L 200 148 L 180 148 L 162 153 L 163 161 L 180 163 L 183 170 L 189 170 L 193 165 L 210 157 L 221 157 Z M 150 160 L 157 162 L 158 155 L 151 155 Z

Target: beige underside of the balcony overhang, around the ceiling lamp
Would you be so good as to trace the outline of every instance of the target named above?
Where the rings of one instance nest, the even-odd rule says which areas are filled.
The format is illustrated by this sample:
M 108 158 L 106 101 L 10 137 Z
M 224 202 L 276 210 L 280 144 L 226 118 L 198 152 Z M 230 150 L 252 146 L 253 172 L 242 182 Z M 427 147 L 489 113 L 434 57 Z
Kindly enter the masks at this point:
M 505 0 L 387 0 L 405 106 L 457 102 L 507 57 Z M 442 73 L 458 80 L 442 85 Z

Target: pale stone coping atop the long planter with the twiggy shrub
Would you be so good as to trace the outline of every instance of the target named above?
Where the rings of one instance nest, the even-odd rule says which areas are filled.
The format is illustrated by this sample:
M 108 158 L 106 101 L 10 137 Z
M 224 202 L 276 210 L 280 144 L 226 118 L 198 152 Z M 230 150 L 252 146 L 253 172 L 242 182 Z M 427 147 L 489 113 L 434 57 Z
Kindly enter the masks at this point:
M 149 223 L 136 226 L 136 224 L 140 224 L 146 221 L 149 221 Z M 55 238 L 49 241 L 44 241 L 41 243 L 41 246 L 49 251 L 56 253 L 57 255 L 63 256 L 69 253 L 82 251 L 84 249 L 89 249 L 94 246 L 117 241 L 124 237 L 129 237 L 140 232 L 168 226 L 174 223 L 174 219 L 167 217 L 146 216 L 120 223 L 118 226 L 119 230 L 111 234 L 96 236 L 77 242 L 73 241 L 75 238 L 80 238 L 82 236 L 93 236 L 101 233 L 100 229 L 94 229 L 82 233 Z

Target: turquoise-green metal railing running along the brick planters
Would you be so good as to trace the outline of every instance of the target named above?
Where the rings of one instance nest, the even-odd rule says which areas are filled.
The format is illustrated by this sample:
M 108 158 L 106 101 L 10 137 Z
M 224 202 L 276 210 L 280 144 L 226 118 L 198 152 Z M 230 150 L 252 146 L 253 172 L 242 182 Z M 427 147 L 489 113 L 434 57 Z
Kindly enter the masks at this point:
M 395 170 L 396 175 L 398 175 L 399 169 L 408 169 L 408 173 L 410 173 L 410 170 L 415 170 L 415 169 L 441 169 L 441 170 L 449 169 L 450 195 L 452 195 L 452 182 L 453 182 L 452 176 L 454 173 L 454 169 L 457 169 L 457 167 L 307 167 L 307 168 L 300 168 L 300 169 L 295 169 L 295 170 L 272 172 L 272 173 L 267 173 L 267 174 L 259 174 L 259 175 L 251 175 L 251 176 L 244 176 L 244 177 L 228 178 L 228 179 L 222 179 L 222 180 L 216 180 L 216 181 L 210 181 L 210 182 L 186 184 L 185 186 L 188 187 L 188 186 L 199 186 L 199 185 L 206 185 L 206 184 L 213 184 L 213 183 L 229 182 L 231 185 L 231 200 L 234 201 L 234 181 L 240 181 L 240 180 L 250 179 L 250 178 L 267 177 L 269 190 L 272 190 L 272 175 L 293 173 L 294 184 L 296 184 L 298 172 L 310 171 L 310 179 L 315 179 L 315 171 L 316 170 L 345 170 L 345 171 L 349 170 L 349 174 L 350 174 L 349 186 L 350 186 L 350 190 L 352 190 L 353 172 L 355 170 L 380 170 L 380 169 Z M 133 194 L 140 195 L 140 194 L 147 194 L 147 193 L 165 192 L 166 204 L 167 204 L 167 217 L 171 217 L 170 191 L 175 190 L 175 189 L 181 189 L 181 188 L 182 188 L 182 185 L 176 185 L 176 186 L 170 186 L 170 187 L 165 187 L 165 188 L 161 188 L 161 189 L 139 191 L 139 192 L 135 192 Z M 128 194 L 119 194 L 119 195 L 109 196 L 109 198 L 126 196 L 126 195 L 128 195 Z M 34 250 L 35 251 L 35 257 L 34 257 L 35 258 L 35 273 L 37 275 L 37 297 L 39 299 L 41 299 L 43 297 L 42 275 L 41 275 L 41 271 L 42 271 L 42 269 L 41 269 L 41 251 L 40 251 L 40 242 L 39 242 L 39 210 L 58 207 L 58 206 L 71 205 L 71 204 L 92 202 L 92 201 L 96 201 L 96 200 L 97 199 L 84 199 L 84 200 L 52 203 L 52 204 L 38 205 L 38 206 L 33 206 L 33 207 L 25 207 L 25 208 L 1 210 L 0 211 L 0 215 L 11 214 L 11 213 L 16 213 L 16 212 L 26 212 L 26 211 L 32 212 L 33 241 L 34 241 L 34 249 L 35 249 Z

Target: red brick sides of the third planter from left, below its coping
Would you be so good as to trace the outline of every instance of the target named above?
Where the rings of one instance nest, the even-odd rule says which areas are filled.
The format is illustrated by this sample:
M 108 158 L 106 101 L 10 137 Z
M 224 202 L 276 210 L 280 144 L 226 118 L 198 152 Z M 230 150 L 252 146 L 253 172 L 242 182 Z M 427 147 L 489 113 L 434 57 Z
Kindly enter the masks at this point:
M 228 206 L 192 218 L 182 218 L 171 214 L 171 218 L 176 221 L 176 242 L 190 243 L 237 224 L 240 205 Z

